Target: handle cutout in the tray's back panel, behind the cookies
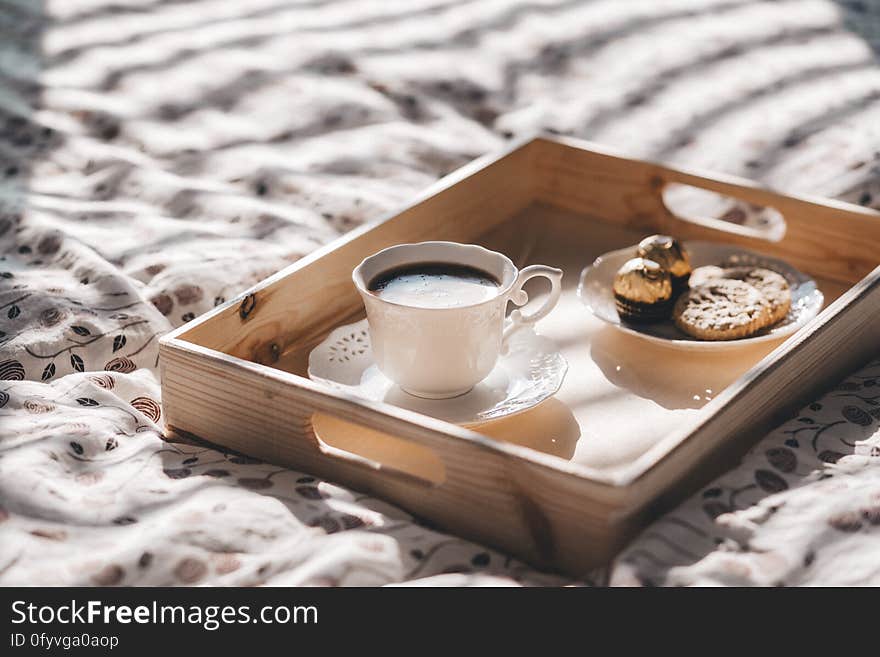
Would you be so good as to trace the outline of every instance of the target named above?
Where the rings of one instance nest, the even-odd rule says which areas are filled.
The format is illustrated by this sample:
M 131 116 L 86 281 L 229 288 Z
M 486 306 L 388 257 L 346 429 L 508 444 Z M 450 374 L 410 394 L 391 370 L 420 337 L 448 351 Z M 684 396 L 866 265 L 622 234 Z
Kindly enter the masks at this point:
M 785 236 L 782 213 L 758 202 L 748 187 L 673 177 L 664 177 L 657 187 L 661 203 L 676 219 L 769 242 Z

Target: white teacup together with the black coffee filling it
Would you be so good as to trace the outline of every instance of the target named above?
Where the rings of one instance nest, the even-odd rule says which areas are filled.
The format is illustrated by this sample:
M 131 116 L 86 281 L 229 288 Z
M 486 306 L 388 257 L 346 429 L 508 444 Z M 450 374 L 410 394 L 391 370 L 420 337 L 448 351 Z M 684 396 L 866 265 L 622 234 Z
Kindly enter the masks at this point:
M 528 302 L 529 279 L 550 280 L 541 308 L 505 318 L 507 303 Z M 562 292 L 562 271 L 518 270 L 507 256 L 473 244 L 421 242 L 383 249 L 352 272 L 364 300 L 380 371 L 417 397 L 444 399 L 486 378 L 517 328 L 549 313 Z

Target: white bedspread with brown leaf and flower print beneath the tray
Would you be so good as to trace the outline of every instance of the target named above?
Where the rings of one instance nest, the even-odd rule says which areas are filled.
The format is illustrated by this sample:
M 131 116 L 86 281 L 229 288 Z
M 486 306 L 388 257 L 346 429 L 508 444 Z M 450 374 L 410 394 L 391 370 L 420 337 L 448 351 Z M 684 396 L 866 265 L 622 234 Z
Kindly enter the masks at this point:
M 0 584 L 880 584 L 880 360 L 577 580 L 165 442 L 156 368 L 540 129 L 880 207 L 880 3 L 0 0 L 0 35 Z

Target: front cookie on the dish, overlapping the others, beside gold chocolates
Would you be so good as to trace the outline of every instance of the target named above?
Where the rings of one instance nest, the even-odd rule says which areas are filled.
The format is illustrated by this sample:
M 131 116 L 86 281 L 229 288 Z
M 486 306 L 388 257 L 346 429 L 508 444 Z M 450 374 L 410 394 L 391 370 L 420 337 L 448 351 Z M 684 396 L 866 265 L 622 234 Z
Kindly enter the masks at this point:
M 718 278 L 692 287 L 675 303 L 679 330 L 700 340 L 736 340 L 770 325 L 770 303 L 745 281 Z

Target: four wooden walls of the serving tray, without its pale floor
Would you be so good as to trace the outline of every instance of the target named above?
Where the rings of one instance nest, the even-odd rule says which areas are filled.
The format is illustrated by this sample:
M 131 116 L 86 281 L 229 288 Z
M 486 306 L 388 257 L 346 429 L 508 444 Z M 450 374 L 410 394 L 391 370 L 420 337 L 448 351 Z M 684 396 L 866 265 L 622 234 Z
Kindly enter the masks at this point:
M 736 227 L 731 232 L 723 226 L 722 232 L 711 222 L 675 217 L 660 195 L 669 182 L 772 205 L 786 217 L 786 234 L 771 243 Z M 307 349 L 362 312 L 349 277 L 366 255 L 407 241 L 476 241 L 494 228 L 513 256 L 523 246 L 520 233 L 511 229 L 508 235 L 504 222 L 535 200 L 576 212 L 586 234 L 591 226 L 621 225 L 722 240 L 841 283 L 864 279 L 693 421 L 613 473 L 359 400 L 267 365 Z M 729 467 L 805 397 L 876 354 L 878 244 L 876 212 L 539 138 L 453 174 L 387 220 L 163 338 L 164 414 L 169 427 L 184 435 L 340 481 L 536 565 L 582 574 L 607 560 L 658 510 Z M 349 426 L 336 425 L 336 439 L 316 435 L 316 424 L 333 433 L 333 422 L 340 421 Z M 353 438 L 358 427 L 365 431 Z M 365 444 L 370 435 L 377 437 Z M 387 461 L 385 455 L 391 455 Z

